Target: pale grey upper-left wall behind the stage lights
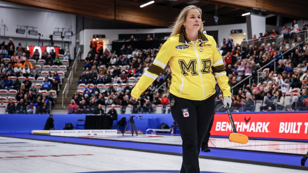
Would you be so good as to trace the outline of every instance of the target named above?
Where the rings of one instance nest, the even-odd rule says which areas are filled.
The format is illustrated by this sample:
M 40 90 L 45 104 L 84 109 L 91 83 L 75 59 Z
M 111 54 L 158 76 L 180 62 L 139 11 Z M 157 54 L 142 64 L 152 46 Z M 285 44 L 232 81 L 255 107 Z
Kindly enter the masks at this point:
M 49 35 L 53 34 L 54 28 L 71 27 L 73 34 L 76 33 L 76 16 L 73 14 L 65 14 L 51 10 L 44 10 L 28 6 L 17 5 L 8 2 L 0 1 L 0 25 L 5 24 L 7 30 L 5 31 L 5 41 L 9 42 L 9 38 L 14 39 L 15 46 L 19 42 L 22 46 L 26 46 L 26 33 L 17 34 L 17 25 L 34 26 L 37 27 L 39 33 L 44 34 L 41 37 L 44 46 L 47 46 L 50 38 Z M 0 42 L 3 42 L 4 27 L 0 26 Z M 28 34 L 27 45 L 38 46 L 38 36 Z M 54 37 L 55 46 L 61 46 L 61 38 Z M 75 36 L 64 38 L 64 41 L 70 42 L 70 51 L 73 53 L 75 47 Z

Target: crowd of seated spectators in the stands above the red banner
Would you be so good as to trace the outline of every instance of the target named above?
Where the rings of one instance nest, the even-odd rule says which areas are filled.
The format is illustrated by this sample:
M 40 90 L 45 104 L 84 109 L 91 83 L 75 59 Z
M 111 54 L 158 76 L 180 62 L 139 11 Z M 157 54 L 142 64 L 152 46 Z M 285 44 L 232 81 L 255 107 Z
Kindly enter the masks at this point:
M 288 30 L 289 34 L 295 34 L 300 29 L 294 21 Z M 302 30 L 307 30 L 305 23 Z M 224 39 L 220 44 L 229 85 L 234 86 L 232 111 L 254 111 L 253 105 L 257 100 L 262 101 L 260 111 L 308 110 L 306 92 L 308 87 L 308 43 L 298 37 L 292 43 L 285 39 L 279 44 L 272 42 L 266 45 L 261 43 L 261 46 L 257 46 L 261 39 L 276 35 L 276 31 L 270 35 L 260 33 L 259 38 L 254 35 L 255 46 L 249 45 L 247 48 L 241 47 L 239 44 L 234 46 L 232 39 Z M 269 68 L 269 70 L 262 72 L 263 70 L 259 70 L 261 67 Z M 249 75 L 252 77 L 247 78 Z M 245 78 L 247 79 L 242 81 Z M 251 85 L 249 85 L 249 80 Z M 237 85 L 238 83 L 240 84 Z M 292 93 L 292 97 L 295 95 L 298 100 L 287 105 L 289 101 L 286 102 L 284 96 L 295 88 L 298 88 L 299 92 Z M 218 95 L 216 98 L 217 112 L 225 112 L 221 99 L 222 95 Z

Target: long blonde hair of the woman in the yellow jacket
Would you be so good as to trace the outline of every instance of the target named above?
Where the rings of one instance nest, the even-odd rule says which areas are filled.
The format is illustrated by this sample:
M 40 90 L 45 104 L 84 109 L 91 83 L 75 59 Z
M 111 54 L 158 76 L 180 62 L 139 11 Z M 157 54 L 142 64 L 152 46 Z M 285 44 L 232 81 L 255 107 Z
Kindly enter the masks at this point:
M 202 10 L 200 8 L 196 7 L 196 6 L 191 5 L 191 6 L 185 7 L 181 11 L 179 16 L 176 18 L 176 21 L 173 22 L 172 26 L 170 27 L 170 28 L 173 28 L 173 30 L 172 30 L 169 38 L 179 34 L 181 31 L 184 30 L 183 23 L 186 21 L 188 10 L 193 9 L 193 8 L 197 9 L 200 12 L 200 15 L 202 14 Z M 203 22 L 201 22 L 201 27 L 200 27 L 199 31 L 203 32 Z

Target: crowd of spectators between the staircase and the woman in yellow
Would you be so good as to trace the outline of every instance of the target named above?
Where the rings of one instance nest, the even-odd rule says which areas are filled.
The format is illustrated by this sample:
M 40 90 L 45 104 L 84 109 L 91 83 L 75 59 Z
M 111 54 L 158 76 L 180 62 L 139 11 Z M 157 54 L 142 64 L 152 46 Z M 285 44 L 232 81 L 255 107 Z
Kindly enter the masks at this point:
M 84 83 L 86 87 L 83 93 L 76 91 L 72 97 L 77 106 L 74 112 L 94 113 L 99 104 L 105 106 L 112 104 L 121 105 L 123 111 L 125 111 L 127 105 L 138 105 L 139 103 L 132 101 L 130 94 L 132 87 L 128 85 L 128 78 L 140 77 L 152 65 L 159 49 L 138 50 L 133 49 L 131 45 L 127 47 L 123 45 L 115 54 L 115 52 L 110 52 L 108 49 L 103 51 L 103 47 L 96 50 L 96 45 L 91 44 L 90 51 L 85 58 L 83 72 L 78 81 L 78 84 Z M 140 107 L 139 110 L 136 110 L 137 112 L 153 112 L 152 106 L 149 107 L 150 110 L 144 110 L 143 108 L 154 101 L 156 88 L 164 82 L 167 82 L 168 86 L 171 84 L 170 66 L 166 66 L 156 81 L 141 95 L 142 99 L 140 99 Z M 112 85 L 123 83 L 126 83 L 126 85 L 119 85 L 118 87 L 113 87 Z M 94 86 L 91 87 L 90 84 Z M 106 90 L 100 91 L 97 88 L 98 84 L 109 84 L 109 87 Z M 165 97 L 161 90 L 159 90 L 158 95 L 162 95 L 163 98 Z M 160 97 L 155 99 L 154 104 L 158 104 L 158 101 L 160 101 Z M 159 104 L 168 104 L 168 99 L 165 97 Z M 87 112 L 84 112 L 85 109 L 80 109 L 80 105 L 82 107 L 86 106 Z

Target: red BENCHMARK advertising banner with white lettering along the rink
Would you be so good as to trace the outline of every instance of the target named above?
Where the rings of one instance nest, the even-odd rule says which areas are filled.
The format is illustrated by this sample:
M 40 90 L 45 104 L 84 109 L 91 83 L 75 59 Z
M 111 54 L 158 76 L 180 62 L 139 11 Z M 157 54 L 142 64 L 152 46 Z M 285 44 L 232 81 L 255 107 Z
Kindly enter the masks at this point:
M 233 114 L 237 132 L 248 137 L 308 139 L 308 113 Z M 215 114 L 211 135 L 233 132 L 228 114 Z

